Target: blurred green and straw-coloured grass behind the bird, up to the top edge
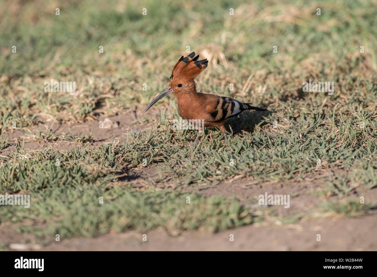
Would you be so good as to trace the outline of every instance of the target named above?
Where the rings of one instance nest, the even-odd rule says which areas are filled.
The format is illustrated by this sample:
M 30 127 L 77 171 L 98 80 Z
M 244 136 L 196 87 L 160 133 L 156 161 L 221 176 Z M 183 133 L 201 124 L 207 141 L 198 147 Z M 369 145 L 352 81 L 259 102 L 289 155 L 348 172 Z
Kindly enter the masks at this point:
M 334 81 L 333 99 L 356 90 L 353 103 L 370 103 L 375 13 L 375 1 L 3 1 L 0 123 L 28 126 L 36 114 L 81 121 L 99 107 L 113 115 L 146 104 L 167 86 L 186 46 L 210 60 L 198 78 L 204 93 L 268 104 L 296 99 L 312 79 Z M 45 93 L 51 79 L 76 81 L 77 95 Z

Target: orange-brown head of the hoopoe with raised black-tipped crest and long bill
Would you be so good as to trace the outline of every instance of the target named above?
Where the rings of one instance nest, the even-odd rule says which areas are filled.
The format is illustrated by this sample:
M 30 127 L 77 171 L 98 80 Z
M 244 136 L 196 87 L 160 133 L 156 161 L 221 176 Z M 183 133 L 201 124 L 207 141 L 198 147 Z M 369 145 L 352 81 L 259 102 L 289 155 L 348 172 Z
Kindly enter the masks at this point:
M 199 55 L 195 56 L 195 52 L 181 57 L 175 64 L 172 75 L 170 75 L 169 87 L 158 95 L 145 108 L 144 113 L 153 106 L 162 97 L 174 93 L 179 96 L 180 93 L 196 93 L 194 79 L 198 76 L 208 65 L 208 60 L 198 60 Z

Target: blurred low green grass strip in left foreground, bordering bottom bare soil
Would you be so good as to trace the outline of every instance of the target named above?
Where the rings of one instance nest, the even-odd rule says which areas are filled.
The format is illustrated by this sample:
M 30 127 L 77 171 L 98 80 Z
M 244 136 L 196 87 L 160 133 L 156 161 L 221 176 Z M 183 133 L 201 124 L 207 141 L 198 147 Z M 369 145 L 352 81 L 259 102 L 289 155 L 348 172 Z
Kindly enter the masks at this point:
M 190 204 L 186 203 L 187 196 Z M 217 232 L 250 224 L 257 218 L 234 199 L 172 191 L 139 192 L 124 188 L 103 191 L 92 186 L 50 189 L 33 193 L 31 198 L 29 209 L 18 206 L 2 209 L 1 222 L 35 219 L 39 226 L 23 226 L 18 231 L 32 231 L 46 242 L 53 241 L 55 234 L 62 239 L 95 237 L 110 231 L 147 232 L 157 227 L 171 235 L 198 228 Z M 48 223 L 47 228 L 43 228 L 43 223 Z

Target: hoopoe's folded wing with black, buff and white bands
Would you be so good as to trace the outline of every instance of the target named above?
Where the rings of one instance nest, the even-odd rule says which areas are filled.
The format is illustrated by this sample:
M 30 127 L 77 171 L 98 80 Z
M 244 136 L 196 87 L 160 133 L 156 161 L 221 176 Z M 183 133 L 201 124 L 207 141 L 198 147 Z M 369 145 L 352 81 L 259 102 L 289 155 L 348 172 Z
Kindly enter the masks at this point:
M 212 102 L 211 104 L 207 105 L 207 112 L 213 118 L 213 122 L 231 118 L 244 110 L 247 110 L 247 106 L 245 104 L 224 96 L 218 96 L 217 103 Z

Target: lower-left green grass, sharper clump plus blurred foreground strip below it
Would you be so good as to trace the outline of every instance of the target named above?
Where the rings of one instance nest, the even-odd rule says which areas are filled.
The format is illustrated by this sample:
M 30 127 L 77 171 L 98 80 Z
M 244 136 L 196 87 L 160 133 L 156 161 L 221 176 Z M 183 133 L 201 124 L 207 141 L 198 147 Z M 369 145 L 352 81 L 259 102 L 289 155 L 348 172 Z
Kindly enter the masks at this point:
M 51 147 L 34 151 L 17 146 L 0 167 L 0 191 L 31 194 L 31 206 L 4 206 L 2 222 L 54 222 L 48 228 L 20 228 L 38 236 L 98 236 L 109 231 L 157 226 L 171 234 L 205 228 L 217 232 L 253 222 L 253 213 L 236 199 L 174 191 L 133 191 L 128 186 L 109 190 L 115 168 L 127 160 L 124 148 L 107 145 L 57 152 Z M 59 165 L 57 165 L 59 159 Z M 102 196 L 104 203 L 99 203 Z M 186 197 L 190 196 L 190 204 Z M 256 216 L 255 216 L 256 217 Z

